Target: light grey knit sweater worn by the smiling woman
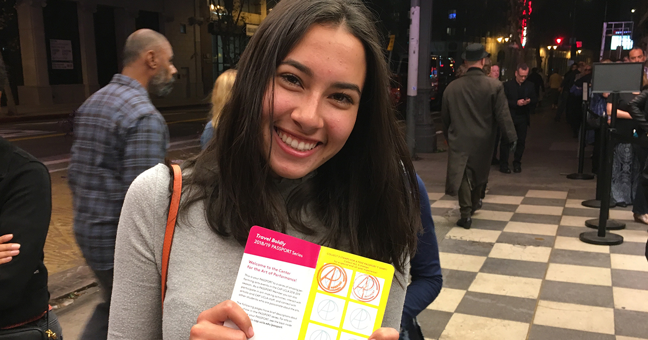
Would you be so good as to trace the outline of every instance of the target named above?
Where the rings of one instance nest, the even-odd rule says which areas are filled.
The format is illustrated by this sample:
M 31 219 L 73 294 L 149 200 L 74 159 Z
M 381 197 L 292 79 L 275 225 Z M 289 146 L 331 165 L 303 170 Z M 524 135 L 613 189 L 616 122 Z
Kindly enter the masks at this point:
M 162 315 L 160 273 L 169 181 L 168 168 L 159 164 L 139 175 L 126 194 L 117 228 L 109 340 L 189 339 L 198 314 L 231 297 L 244 247 L 214 233 L 203 204 L 194 204 L 188 223 L 178 219 Z M 283 180 L 279 186 L 285 194 L 298 183 Z M 314 241 L 292 228 L 288 234 Z M 399 280 L 406 282 L 402 276 Z M 405 289 L 395 281 L 384 327 L 399 329 L 404 298 Z

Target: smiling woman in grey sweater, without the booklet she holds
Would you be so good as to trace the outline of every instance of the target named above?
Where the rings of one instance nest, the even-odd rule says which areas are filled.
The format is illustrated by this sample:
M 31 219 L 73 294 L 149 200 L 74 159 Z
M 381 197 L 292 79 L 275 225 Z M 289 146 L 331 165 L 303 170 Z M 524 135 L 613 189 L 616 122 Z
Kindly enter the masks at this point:
M 213 140 L 182 165 L 164 319 L 167 167 L 143 173 L 126 195 L 109 339 L 251 337 L 248 315 L 227 299 L 253 225 L 392 263 L 386 328 L 370 339 L 398 339 L 421 228 L 419 183 L 373 22 L 360 0 L 273 8 L 241 56 Z M 226 319 L 243 331 L 222 326 Z

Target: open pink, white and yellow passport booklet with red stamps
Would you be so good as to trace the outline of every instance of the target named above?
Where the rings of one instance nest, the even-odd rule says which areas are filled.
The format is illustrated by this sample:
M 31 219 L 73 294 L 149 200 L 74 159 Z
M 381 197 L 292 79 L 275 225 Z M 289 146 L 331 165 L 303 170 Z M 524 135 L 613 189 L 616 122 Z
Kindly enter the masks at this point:
M 231 299 L 248 313 L 253 340 L 369 339 L 393 275 L 388 263 L 253 226 Z

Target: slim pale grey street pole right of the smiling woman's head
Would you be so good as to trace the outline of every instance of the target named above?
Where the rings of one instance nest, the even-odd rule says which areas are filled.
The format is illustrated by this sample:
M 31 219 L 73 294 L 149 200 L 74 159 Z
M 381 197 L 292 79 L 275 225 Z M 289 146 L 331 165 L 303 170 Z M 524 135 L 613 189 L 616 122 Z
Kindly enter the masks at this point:
M 419 23 L 421 22 L 421 6 L 419 0 L 411 0 L 410 8 L 410 56 L 407 73 L 407 113 L 405 117 L 407 146 L 410 156 L 415 156 L 416 129 L 416 96 L 419 83 Z

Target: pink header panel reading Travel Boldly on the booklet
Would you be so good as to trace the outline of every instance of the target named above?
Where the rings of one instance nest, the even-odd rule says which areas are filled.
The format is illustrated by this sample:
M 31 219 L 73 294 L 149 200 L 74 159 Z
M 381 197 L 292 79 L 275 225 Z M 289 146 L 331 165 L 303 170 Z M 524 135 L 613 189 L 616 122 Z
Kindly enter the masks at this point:
M 253 226 L 249 230 L 245 253 L 315 268 L 320 248 L 315 243 L 297 237 Z

